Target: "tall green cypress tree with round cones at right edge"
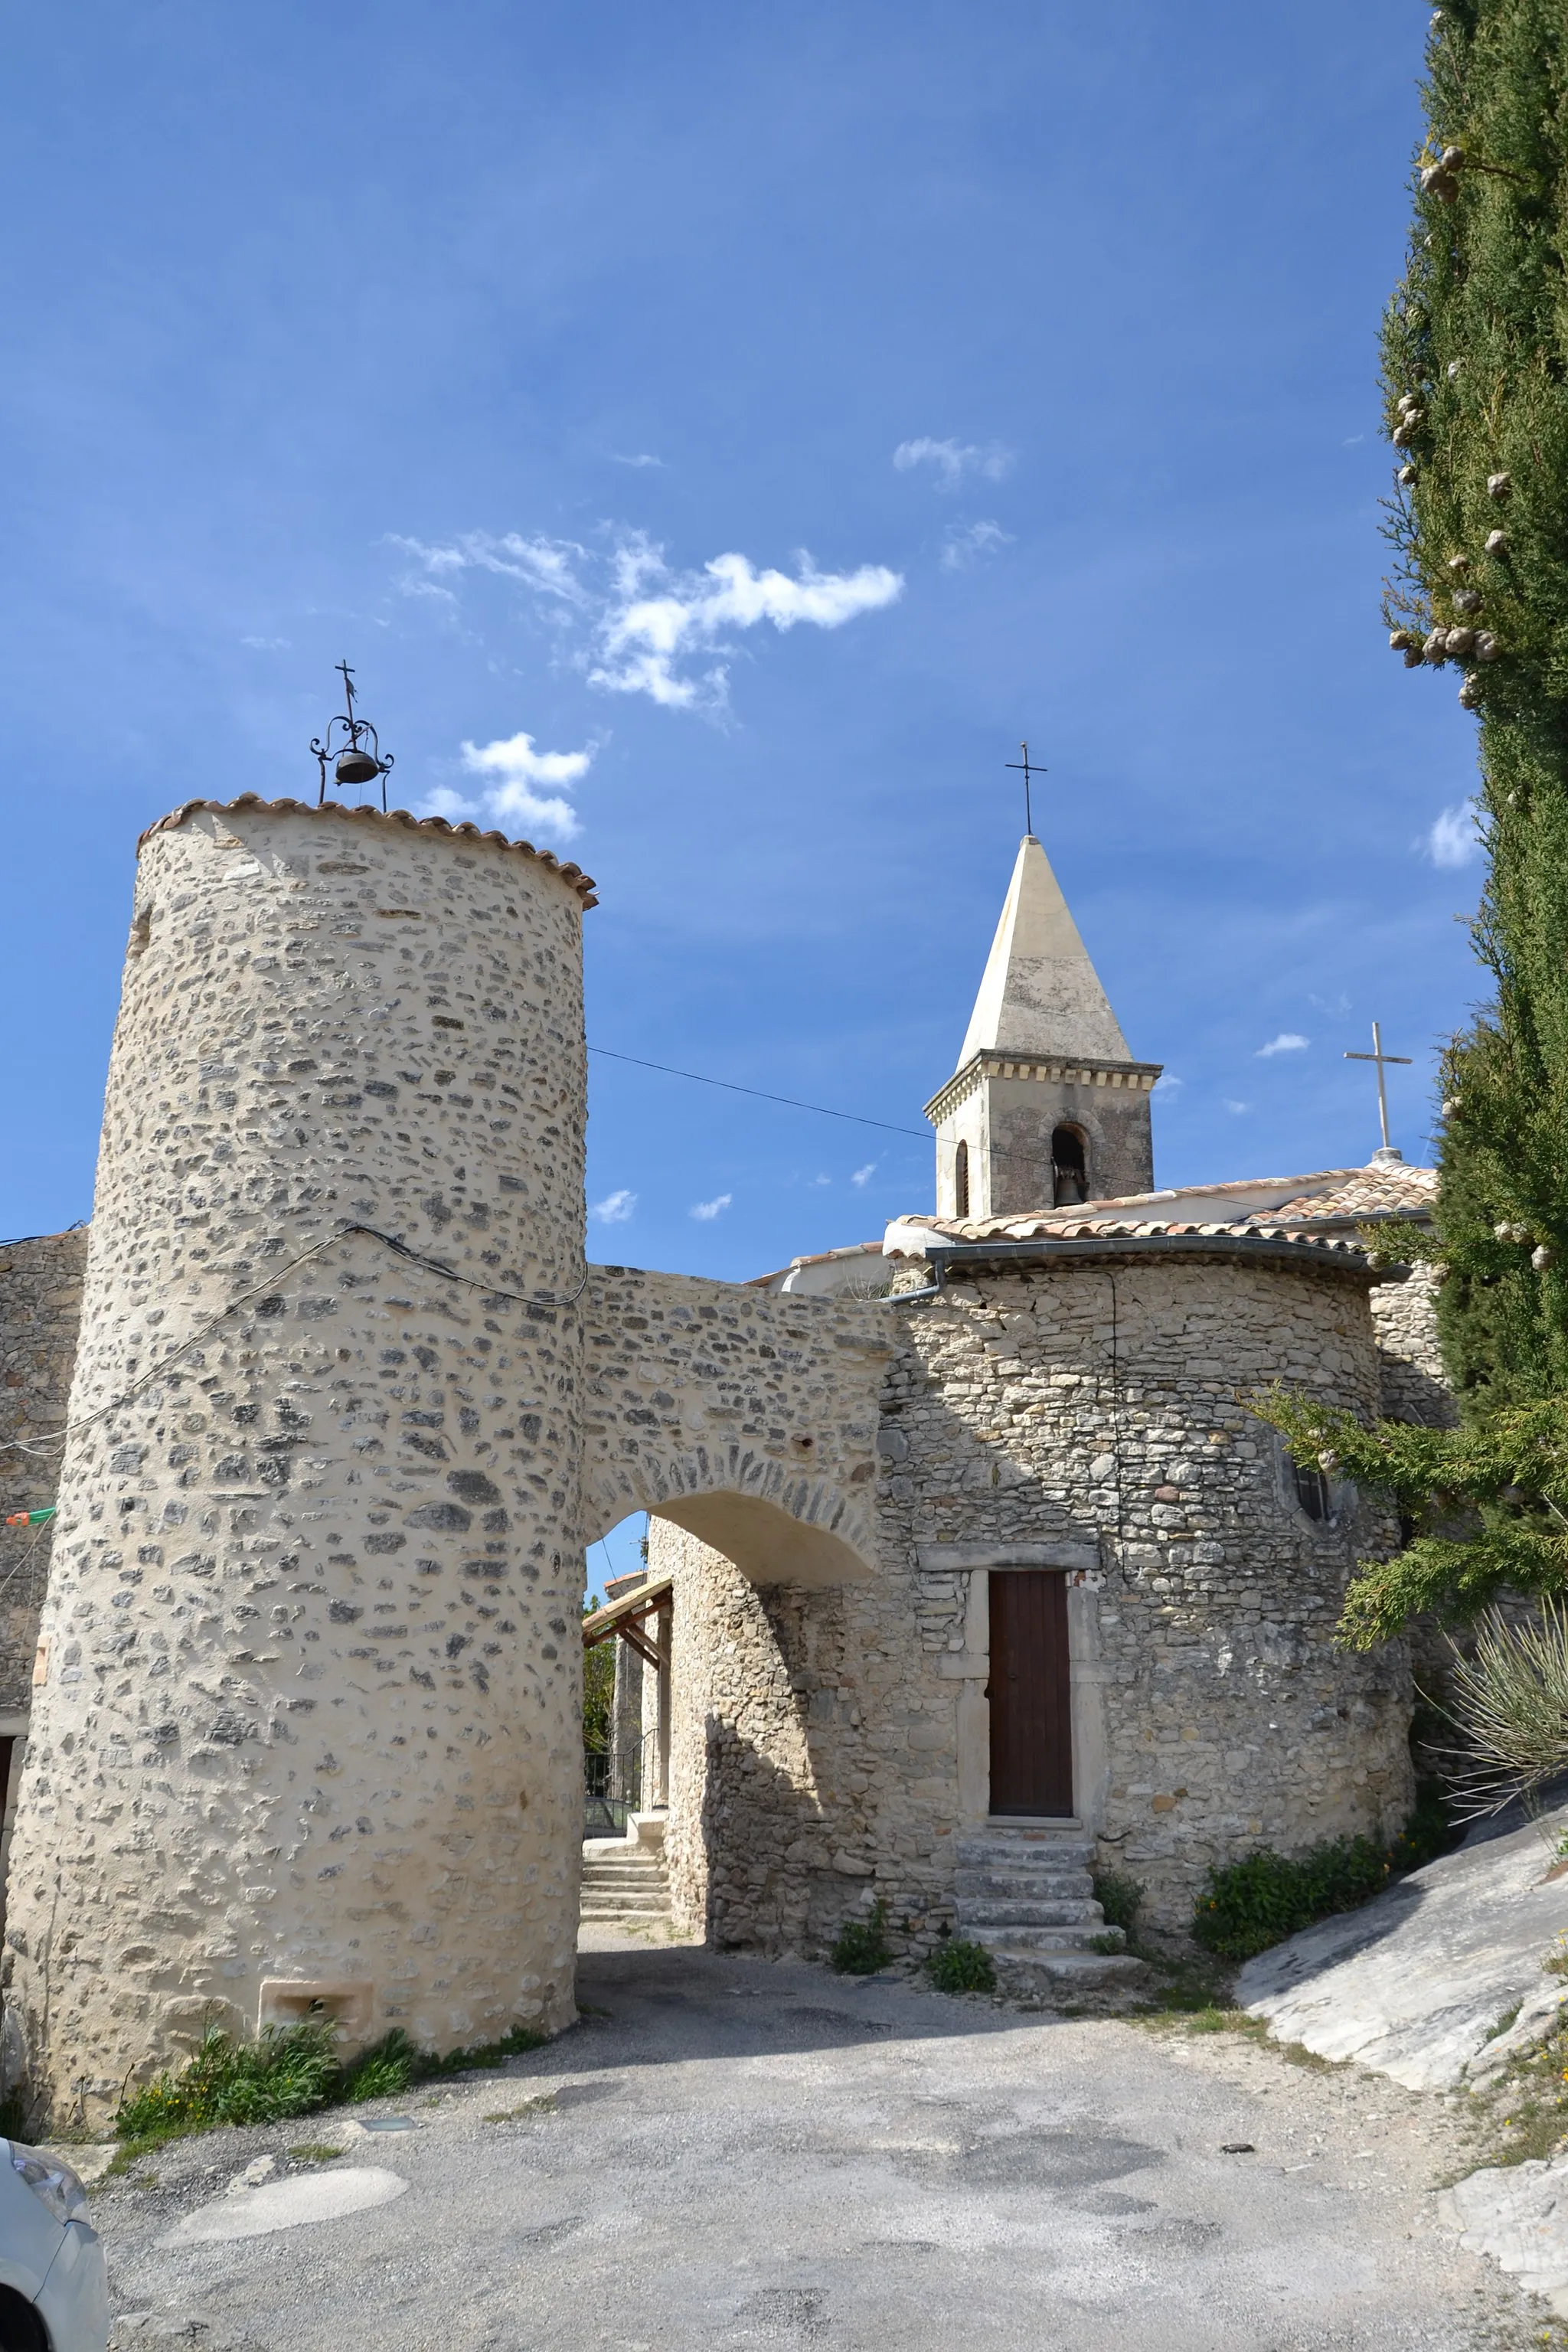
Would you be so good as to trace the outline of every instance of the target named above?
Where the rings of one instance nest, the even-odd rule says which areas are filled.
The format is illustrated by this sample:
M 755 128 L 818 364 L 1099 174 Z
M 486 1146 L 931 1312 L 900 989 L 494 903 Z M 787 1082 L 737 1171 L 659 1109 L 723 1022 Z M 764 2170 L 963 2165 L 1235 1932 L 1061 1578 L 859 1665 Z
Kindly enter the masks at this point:
M 1446 0 L 1427 143 L 1382 329 L 1396 452 L 1387 621 L 1420 682 L 1479 713 L 1490 1002 L 1441 1070 L 1439 1331 L 1458 1432 L 1260 1402 L 1298 1463 L 1396 1496 L 1413 1541 L 1363 1562 L 1342 1637 L 1568 1588 L 1568 14 Z M 1373 1237 L 1378 1240 L 1378 1237 Z

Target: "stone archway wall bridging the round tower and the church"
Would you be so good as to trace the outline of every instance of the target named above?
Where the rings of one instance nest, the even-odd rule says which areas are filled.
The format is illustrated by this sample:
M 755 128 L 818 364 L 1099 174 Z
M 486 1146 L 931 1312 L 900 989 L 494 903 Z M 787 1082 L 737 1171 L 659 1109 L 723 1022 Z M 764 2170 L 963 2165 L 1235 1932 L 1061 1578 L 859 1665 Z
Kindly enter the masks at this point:
M 672 1519 L 752 1583 L 877 1564 L 891 1310 L 595 1265 L 583 1298 L 583 1541 Z

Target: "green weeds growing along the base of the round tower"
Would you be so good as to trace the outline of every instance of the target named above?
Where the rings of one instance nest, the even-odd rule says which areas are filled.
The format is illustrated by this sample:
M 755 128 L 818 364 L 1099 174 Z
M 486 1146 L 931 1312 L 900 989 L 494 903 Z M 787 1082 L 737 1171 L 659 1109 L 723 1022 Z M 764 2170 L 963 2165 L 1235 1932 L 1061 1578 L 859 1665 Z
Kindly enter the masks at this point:
M 212 2027 L 188 2065 L 122 2100 L 115 2138 L 125 2152 L 141 2152 L 216 2124 L 280 2124 L 317 2107 L 397 2098 L 416 2082 L 498 2067 L 545 2039 L 515 2025 L 501 2042 L 435 2056 L 395 2027 L 346 2065 L 329 2023 L 270 2025 L 256 2042 L 235 2042 Z

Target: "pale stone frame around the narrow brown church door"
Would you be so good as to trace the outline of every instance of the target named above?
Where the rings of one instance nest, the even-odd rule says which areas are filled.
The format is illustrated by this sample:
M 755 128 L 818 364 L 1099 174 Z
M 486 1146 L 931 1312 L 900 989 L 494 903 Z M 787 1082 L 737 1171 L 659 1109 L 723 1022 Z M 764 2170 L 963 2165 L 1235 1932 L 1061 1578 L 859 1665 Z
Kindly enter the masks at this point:
M 959 1684 L 957 1755 L 959 1820 L 980 1828 L 990 1809 L 990 1581 L 1009 1569 L 1060 1569 L 1067 1576 L 1067 1672 L 1072 1682 L 1074 1820 L 1098 1832 L 1110 1778 L 1105 1684 L 1100 1672 L 1098 1569 L 1093 1543 L 922 1543 L 926 1571 L 964 1585 L 964 1649 L 945 1651 L 938 1672 Z M 1023 1816 L 997 1816 L 1018 1823 Z

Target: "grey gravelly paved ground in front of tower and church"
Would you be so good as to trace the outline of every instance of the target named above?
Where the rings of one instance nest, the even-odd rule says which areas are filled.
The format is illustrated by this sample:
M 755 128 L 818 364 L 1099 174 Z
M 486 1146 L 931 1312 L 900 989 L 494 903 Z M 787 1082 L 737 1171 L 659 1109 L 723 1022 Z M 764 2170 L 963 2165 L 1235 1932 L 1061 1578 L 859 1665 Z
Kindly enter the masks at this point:
M 94 2220 L 115 2340 L 127 2352 L 1561 2340 L 1542 2305 L 1439 2225 L 1434 2190 L 1469 2147 L 1441 2100 L 1354 2067 L 1293 2065 L 1244 2034 L 1023 2016 L 614 1933 L 592 1943 L 583 2023 L 503 2072 L 174 2143 L 106 2183 Z M 383 2122 L 414 2129 L 362 2129 Z M 341 2154 L 289 2157 L 301 2145 Z M 336 2211 L 299 2220 L 322 2204 Z M 273 2227 L 282 2218 L 294 2225 Z

